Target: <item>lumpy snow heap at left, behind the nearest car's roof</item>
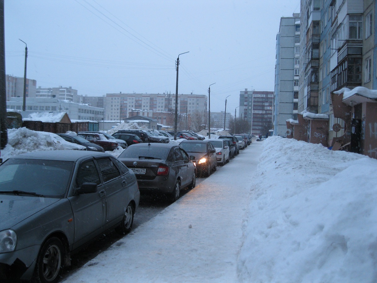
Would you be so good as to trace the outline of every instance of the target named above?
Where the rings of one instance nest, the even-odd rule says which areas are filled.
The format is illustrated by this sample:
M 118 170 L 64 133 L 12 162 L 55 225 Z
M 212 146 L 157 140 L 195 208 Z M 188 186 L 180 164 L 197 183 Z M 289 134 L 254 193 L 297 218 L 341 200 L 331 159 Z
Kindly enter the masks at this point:
M 24 127 L 8 129 L 8 144 L 2 149 L 1 156 L 5 161 L 21 153 L 55 149 L 85 149 L 85 147 L 70 143 L 50 132 L 37 132 Z

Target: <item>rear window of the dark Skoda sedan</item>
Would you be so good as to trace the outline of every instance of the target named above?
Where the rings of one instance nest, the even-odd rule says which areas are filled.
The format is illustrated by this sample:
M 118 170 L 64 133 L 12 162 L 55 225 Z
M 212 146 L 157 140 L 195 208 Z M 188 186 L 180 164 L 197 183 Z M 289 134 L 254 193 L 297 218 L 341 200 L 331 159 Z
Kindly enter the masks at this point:
M 140 159 L 163 159 L 165 160 L 169 148 L 160 148 L 153 146 L 129 146 L 118 158 L 140 158 Z

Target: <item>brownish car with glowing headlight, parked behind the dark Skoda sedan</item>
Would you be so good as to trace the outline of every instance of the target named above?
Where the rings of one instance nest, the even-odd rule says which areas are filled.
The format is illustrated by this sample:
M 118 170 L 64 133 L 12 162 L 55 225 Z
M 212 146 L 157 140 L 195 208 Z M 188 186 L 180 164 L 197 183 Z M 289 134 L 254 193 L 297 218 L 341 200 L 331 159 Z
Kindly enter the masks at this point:
M 208 140 L 184 140 L 179 144 L 196 163 L 197 176 L 209 177 L 216 171 L 216 149 Z

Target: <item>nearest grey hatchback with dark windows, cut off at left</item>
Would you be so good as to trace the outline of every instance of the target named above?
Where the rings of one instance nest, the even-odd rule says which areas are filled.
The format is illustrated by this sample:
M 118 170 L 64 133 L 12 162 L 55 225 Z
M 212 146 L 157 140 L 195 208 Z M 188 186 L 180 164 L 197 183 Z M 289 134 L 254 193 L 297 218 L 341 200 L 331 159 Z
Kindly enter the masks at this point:
M 57 282 L 70 254 L 115 228 L 130 232 L 135 174 L 110 154 L 38 151 L 0 166 L 0 276 Z

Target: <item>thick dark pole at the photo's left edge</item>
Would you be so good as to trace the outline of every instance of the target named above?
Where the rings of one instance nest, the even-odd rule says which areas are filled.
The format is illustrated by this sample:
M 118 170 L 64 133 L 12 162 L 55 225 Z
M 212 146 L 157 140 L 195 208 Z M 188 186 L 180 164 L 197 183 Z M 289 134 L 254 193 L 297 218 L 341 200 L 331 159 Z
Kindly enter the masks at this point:
M 8 143 L 6 129 L 6 84 L 5 84 L 5 32 L 4 32 L 4 0 L 0 0 L 0 148 Z M 0 163 L 3 160 L 0 158 Z

